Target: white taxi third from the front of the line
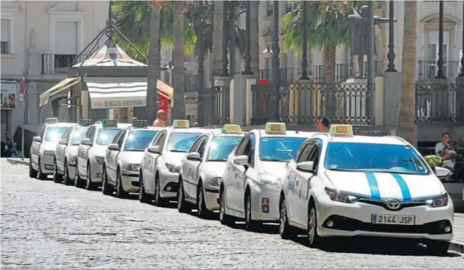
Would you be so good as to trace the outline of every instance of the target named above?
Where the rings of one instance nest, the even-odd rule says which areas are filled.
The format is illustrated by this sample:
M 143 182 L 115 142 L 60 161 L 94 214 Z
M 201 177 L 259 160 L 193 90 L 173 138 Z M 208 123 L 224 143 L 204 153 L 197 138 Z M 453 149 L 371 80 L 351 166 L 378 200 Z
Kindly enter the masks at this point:
M 181 161 L 178 211 L 190 211 L 194 204 L 200 218 L 209 218 L 211 211 L 219 210 L 219 182 L 227 157 L 243 136 L 238 124 L 199 136 Z

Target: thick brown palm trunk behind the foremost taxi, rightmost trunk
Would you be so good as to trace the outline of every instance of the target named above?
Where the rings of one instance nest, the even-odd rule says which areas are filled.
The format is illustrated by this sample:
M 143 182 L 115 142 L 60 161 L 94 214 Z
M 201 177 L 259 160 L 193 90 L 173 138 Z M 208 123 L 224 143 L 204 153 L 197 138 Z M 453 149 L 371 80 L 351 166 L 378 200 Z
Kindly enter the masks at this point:
M 417 145 L 416 119 L 416 41 L 417 2 L 405 1 L 405 22 L 402 40 L 401 98 L 397 134 L 413 146 Z

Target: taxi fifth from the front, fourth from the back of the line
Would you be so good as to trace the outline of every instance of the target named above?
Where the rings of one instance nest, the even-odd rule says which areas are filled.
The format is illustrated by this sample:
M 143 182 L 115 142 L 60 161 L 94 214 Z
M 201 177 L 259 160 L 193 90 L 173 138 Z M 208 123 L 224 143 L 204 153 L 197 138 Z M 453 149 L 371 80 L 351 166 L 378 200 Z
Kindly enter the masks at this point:
M 148 127 L 146 120 L 134 120 L 132 127 L 116 134 L 105 153 L 102 192 L 124 198 L 129 192 L 139 192 L 139 170 L 144 151 L 161 127 Z

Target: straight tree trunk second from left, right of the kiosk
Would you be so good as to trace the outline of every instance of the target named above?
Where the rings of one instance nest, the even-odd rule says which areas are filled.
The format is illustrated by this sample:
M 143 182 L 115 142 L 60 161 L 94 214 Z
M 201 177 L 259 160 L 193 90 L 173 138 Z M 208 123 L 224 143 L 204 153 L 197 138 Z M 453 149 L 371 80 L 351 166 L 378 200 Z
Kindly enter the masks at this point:
M 174 107 L 173 119 L 185 119 L 184 94 L 184 1 L 173 1 L 174 13 Z

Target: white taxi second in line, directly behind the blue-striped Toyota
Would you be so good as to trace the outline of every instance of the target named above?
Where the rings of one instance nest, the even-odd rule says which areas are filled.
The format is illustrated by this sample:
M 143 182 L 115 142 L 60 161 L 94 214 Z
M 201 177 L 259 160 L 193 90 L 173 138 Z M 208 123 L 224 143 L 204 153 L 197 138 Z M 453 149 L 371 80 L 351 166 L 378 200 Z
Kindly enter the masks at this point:
M 267 123 L 240 141 L 228 156 L 219 189 L 219 220 L 232 225 L 245 218 L 254 230 L 263 222 L 279 221 L 279 194 L 286 164 L 313 133 L 286 131 L 284 123 Z

